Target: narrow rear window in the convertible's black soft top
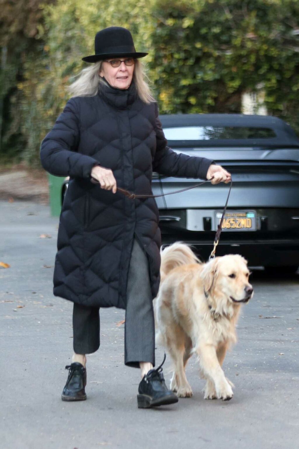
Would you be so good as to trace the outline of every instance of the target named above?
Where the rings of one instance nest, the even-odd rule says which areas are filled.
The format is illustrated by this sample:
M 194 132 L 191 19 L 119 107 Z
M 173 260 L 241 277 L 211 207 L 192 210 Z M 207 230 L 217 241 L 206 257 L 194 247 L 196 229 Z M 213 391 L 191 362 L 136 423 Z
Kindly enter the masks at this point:
M 276 137 L 271 128 L 240 126 L 181 126 L 163 128 L 169 141 L 200 141 L 215 139 L 269 139 Z

